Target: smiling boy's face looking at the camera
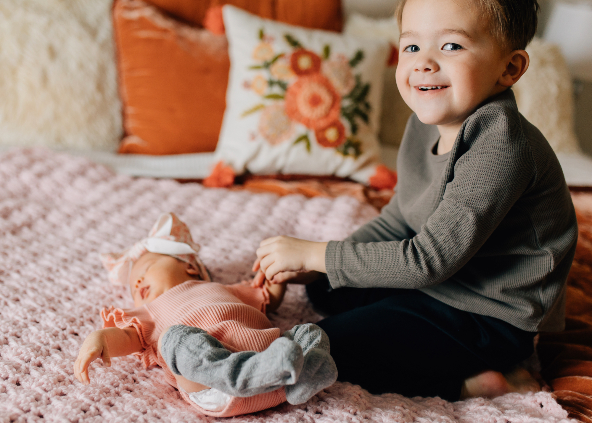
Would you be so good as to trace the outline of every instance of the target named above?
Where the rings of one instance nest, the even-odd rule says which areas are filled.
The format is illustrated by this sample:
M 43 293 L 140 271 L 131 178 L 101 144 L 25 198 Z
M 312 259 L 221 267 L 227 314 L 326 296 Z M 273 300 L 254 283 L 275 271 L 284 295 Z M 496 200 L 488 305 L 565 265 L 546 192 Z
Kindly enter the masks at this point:
M 497 83 L 505 53 L 471 1 L 408 0 L 397 86 L 423 123 L 459 124 L 506 89 Z

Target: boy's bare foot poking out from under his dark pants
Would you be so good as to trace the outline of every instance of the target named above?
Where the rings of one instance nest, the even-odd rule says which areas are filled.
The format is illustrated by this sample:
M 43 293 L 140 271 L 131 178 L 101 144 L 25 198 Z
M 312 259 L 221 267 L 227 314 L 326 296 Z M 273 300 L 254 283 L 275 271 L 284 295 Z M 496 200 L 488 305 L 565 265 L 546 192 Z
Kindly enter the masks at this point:
M 540 385 L 530 373 L 517 367 L 506 374 L 487 370 L 465 379 L 459 399 L 483 397 L 495 398 L 508 392 L 536 392 Z

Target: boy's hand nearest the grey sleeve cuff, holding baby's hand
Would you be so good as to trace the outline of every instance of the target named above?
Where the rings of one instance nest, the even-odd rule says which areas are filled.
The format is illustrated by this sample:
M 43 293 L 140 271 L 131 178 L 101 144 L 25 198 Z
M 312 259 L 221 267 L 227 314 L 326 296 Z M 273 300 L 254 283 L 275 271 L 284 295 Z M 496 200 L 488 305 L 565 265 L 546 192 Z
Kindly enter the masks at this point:
M 304 241 L 289 236 L 274 236 L 264 239 L 257 249 L 259 265 L 265 278 L 273 281 L 274 277 L 284 272 L 306 272 L 316 270 L 326 273 L 326 242 Z M 292 275 L 286 275 L 292 276 Z M 278 276 L 279 277 L 279 276 Z

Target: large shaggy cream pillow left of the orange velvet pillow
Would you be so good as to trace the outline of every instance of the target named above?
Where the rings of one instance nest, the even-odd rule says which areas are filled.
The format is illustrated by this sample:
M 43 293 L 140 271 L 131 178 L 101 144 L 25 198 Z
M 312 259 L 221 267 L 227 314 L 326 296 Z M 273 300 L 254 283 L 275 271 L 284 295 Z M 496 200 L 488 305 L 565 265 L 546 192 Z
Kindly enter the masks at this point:
M 0 0 L 0 145 L 114 150 L 111 0 Z

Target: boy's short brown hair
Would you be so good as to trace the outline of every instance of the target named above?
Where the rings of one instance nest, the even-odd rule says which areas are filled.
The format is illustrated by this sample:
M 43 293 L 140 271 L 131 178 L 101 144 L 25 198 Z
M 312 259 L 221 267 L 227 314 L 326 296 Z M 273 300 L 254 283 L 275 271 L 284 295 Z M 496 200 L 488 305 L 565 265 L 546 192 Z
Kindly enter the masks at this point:
M 453 0 L 455 1 L 455 0 Z M 536 0 L 463 0 L 474 3 L 489 25 L 491 34 L 500 47 L 524 50 L 535 37 L 539 4 Z M 400 0 L 395 16 L 401 28 L 403 7 L 407 0 Z

